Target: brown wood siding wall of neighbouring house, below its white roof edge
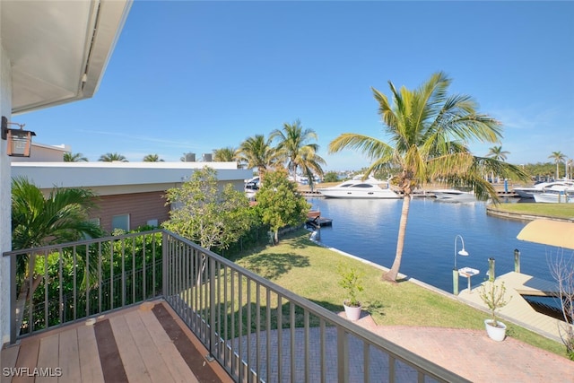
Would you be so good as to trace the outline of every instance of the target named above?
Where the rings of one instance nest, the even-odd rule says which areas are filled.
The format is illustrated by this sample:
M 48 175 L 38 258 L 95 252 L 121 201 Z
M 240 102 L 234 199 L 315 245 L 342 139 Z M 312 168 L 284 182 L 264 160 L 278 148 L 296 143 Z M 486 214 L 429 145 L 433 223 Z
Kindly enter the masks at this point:
M 100 227 L 111 232 L 111 221 L 114 215 L 129 214 L 129 230 L 135 230 L 150 220 L 158 224 L 170 219 L 170 206 L 166 206 L 164 191 L 134 193 L 115 196 L 99 196 L 90 217 L 100 219 Z

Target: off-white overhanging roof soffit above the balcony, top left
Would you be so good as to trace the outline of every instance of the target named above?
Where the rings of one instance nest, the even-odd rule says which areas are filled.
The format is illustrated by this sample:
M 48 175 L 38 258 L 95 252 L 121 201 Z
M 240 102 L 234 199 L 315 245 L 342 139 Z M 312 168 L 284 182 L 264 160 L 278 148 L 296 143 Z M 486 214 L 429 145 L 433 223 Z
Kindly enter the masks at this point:
M 0 25 L 12 64 L 13 113 L 93 96 L 131 4 L 3 1 Z

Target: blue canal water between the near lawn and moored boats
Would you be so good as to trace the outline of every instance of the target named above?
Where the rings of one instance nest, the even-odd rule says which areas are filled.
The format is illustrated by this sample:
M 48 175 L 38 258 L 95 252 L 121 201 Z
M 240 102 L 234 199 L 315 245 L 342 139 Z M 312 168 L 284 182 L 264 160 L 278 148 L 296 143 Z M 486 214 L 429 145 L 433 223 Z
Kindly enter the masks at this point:
M 333 220 L 323 227 L 320 242 L 387 268 L 393 264 L 403 200 L 309 198 L 314 210 Z M 521 272 L 553 281 L 548 257 L 559 248 L 517 239 L 527 222 L 493 217 L 486 203 L 444 203 L 414 198 L 404 240 L 400 272 L 446 292 L 452 292 L 452 270 L 462 242 L 468 257 L 457 255 L 457 266 L 478 269 L 473 286 L 487 277 L 488 259 L 495 260 L 495 274 L 514 271 L 514 250 L 520 251 Z M 560 250 L 561 251 L 561 250 Z M 570 250 L 565 256 L 570 256 Z M 460 278 L 460 289 L 466 288 Z

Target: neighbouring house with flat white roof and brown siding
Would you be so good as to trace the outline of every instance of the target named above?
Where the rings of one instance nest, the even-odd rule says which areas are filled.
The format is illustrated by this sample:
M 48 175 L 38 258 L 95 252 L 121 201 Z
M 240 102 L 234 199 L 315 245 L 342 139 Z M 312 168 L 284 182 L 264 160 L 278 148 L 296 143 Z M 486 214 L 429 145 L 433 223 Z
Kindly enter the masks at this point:
M 235 162 L 55 162 L 15 161 L 13 177 L 27 177 L 43 191 L 53 187 L 88 187 L 99 197 L 91 219 L 108 232 L 158 226 L 170 217 L 166 190 L 178 187 L 195 170 L 217 170 L 220 184 L 243 190 L 252 170 L 237 169 Z

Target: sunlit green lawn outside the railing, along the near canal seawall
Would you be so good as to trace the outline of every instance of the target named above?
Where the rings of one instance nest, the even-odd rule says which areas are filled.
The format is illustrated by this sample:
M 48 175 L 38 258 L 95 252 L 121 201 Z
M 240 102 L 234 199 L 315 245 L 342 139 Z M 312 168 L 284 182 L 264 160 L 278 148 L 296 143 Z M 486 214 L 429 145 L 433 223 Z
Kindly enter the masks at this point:
M 414 283 L 381 282 L 380 269 L 317 246 L 308 238 L 308 231 L 297 231 L 277 246 L 258 248 L 232 260 L 335 312 L 343 310 L 346 298 L 338 285 L 337 266 L 355 267 L 363 275 L 364 291 L 359 298 L 378 325 L 484 329 L 485 312 Z M 508 326 L 507 335 L 566 357 L 563 344 L 520 326 Z

